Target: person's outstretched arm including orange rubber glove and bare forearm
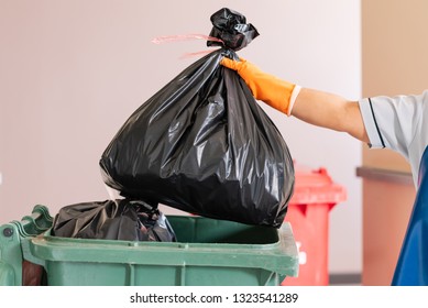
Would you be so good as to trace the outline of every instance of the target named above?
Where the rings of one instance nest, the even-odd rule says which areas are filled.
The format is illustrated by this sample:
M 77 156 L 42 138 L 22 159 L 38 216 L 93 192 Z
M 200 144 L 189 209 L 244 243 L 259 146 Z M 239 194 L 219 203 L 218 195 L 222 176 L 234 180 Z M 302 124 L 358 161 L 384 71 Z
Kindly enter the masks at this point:
M 245 59 L 235 62 L 223 58 L 221 64 L 238 72 L 255 99 L 307 123 L 347 132 L 358 140 L 369 142 L 356 101 L 319 90 L 300 89 L 294 84 L 263 73 Z

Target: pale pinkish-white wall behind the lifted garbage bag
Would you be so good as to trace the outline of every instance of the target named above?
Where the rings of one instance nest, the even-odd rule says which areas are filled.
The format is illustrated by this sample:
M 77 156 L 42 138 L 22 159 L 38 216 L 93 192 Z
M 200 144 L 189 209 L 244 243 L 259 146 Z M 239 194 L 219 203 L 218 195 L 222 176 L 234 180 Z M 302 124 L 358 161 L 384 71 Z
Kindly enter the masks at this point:
M 221 7 L 261 35 L 240 54 L 307 87 L 361 96 L 359 0 L 0 0 L 0 220 L 109 198 L 98 160 L 124 120 L 205 51 L 204 42 L 154 45 L 157 35 L 202 33 Z M 326 167 L 348 190 L 330 220 L 330 271 L 361 271 L 361 145 L 268 108 L 294 158 Z

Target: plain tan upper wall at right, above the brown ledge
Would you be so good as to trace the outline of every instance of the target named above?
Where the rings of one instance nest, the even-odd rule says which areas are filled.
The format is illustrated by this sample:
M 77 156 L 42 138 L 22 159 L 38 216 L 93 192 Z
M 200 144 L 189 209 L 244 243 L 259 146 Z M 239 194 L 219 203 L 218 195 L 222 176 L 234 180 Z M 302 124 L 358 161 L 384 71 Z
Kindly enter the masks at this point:
M 363 96 L 419 94 L 427 88 L 428 2 L 363 0 Z M 396 153 L 367 151 L 363 164 L 410 170 Z

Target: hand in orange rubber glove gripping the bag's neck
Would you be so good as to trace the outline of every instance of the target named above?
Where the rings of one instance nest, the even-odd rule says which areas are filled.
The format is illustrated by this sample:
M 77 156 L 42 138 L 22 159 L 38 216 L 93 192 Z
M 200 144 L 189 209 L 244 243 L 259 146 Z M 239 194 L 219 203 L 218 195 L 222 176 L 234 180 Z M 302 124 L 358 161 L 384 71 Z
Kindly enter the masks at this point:
M 300 90 L 299 86 L 263 73 L 243 58 L 233 61 L 223 57 L 220 64 L 237 70 L 251 89 L 255 99 L 262 100 L 276 110 L 290 116 L 294 100 Z

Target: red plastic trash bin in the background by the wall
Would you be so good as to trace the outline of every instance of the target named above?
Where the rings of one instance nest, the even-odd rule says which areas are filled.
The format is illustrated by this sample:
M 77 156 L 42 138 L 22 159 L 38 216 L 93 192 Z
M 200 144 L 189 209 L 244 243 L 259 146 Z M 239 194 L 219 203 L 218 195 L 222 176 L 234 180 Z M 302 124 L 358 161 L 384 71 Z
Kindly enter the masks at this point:
M 329 284 L 329 212 L 347 199 L 344 187 L 337 185 L 326 168 L 295 166 L 295 190 L 285 221 L 292 224 L 299 249 L 299 273 L 283 286 L 323 286 Z

